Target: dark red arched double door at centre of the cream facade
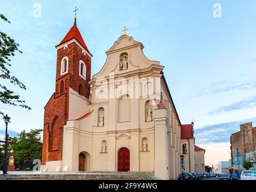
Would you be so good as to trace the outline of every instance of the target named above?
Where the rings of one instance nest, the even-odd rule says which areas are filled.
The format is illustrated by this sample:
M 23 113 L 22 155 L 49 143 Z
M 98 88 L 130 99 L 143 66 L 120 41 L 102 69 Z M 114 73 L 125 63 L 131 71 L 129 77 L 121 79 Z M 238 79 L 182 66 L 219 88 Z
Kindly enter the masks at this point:
M 130 151 L 127 148 L 121 148 L 118 151 L 118 172 L 130 171 Z

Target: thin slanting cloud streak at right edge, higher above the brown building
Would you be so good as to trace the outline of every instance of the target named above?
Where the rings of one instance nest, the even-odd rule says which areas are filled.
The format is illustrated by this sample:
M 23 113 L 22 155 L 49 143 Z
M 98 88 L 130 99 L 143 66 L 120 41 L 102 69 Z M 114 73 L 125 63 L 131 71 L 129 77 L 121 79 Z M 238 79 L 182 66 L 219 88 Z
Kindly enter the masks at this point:
M 219 109 L 210 112 L 209 115 L 215 115 L 222 112 L 231 112 L 233 110 L 247 109 L 249 107 L 254 107 L 254 106 L 256 106 L 256 96 L 247 98 L 242 101 L 237 101 L 227 106 L 220 107 Z

